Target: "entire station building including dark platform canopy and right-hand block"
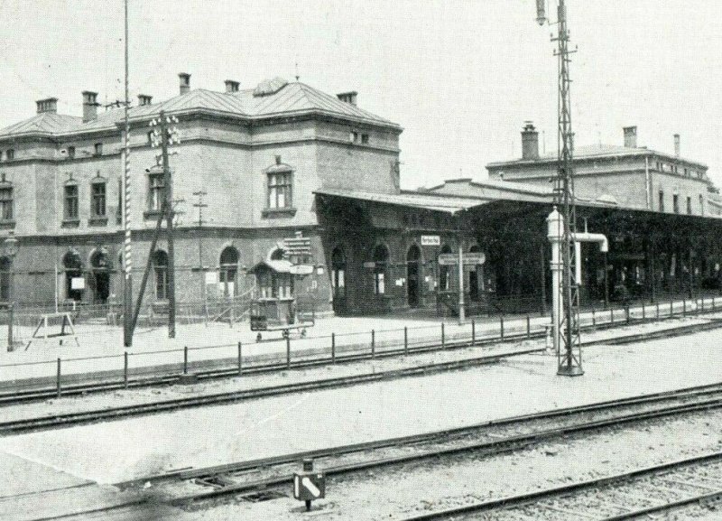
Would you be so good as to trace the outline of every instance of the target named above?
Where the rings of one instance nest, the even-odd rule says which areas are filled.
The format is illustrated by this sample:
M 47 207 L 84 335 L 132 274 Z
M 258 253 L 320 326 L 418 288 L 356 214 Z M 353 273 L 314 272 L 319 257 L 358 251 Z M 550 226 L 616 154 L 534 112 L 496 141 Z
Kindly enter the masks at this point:
M 532 126 L 523 157 L 489 164 L 488 181 L 403 191 L 402 127 L 358 107 L 356 92 L 283 79 L 212 91 L 179 79 L 178 96 L 139 96 L 129 110 L 134 296 L 152 268 L 144 305 L 168 295 L 165 237 L 149 251 L 164 193 L 149 122 L 163 111 L 181 136 L 171 147 L 181 305 L 262 296 L 317 312 L 448 315 L 463 281 L 468 313 L 545 311 L 556 160 L 539 155 Z M 0 238 L 19 239 L 20 304 L 121 302 L 124 111 L 81 97 L 83 116 L 60 115 L 47 98 L 0 131 Z M 634 135 L 577 151 L 579 227 L 610 238 L 608 255 L 582 250 L 584 302 L 718 288 L 722 204 L 707 167 L 638 147 Z M 307 250 L 289 248 L 299 243 Z M 484 262 L 446 262 L 459 254 Z M 312 271 L 292 274 L 294 264 Z M 1 300 L 10 265 L 0 256 Z

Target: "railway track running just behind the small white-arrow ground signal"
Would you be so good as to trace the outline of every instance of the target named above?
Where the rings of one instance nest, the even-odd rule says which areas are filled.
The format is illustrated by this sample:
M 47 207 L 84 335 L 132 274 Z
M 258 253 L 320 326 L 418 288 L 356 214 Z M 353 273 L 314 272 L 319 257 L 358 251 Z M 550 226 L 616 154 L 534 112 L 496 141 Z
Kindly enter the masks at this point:
M 239 496 L 248 500 L 285 496 L 299 461 L 313 459 L 333 478 L 371 469 L 414 464 L 439 457 L 491 456 L 518 451 L 534 443 L 644 421 L 722 407 L 722 383 L 667 393 L 529 414 L 458 429 L 389 440 L 357 443 L 319 451 L 244 461 L 204 469 L 177 470 L 118 486 L 140 490 L 150 486 L 172 505 Z

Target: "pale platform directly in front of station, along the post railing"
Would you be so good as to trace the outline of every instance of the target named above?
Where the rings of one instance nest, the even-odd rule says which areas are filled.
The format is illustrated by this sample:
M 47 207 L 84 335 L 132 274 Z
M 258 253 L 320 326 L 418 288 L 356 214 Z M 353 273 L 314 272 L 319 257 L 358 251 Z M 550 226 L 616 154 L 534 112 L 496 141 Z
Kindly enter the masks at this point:
M 705 307 L 706 306 L 706 307 Z M 671 313 L 682 316 L 700 309 L 722 311 L 722 297 L 697 302 L 664 302 L 658 305 L 635 305 L 628 316 L 651 319 L 655 316 L 669 317 Z M 605 324 L 610 321 L 624 322 L 624 308 L 611 310 L 587 310 L 581 313 L 583 324 Z M 443 326 L 442 326 L 443 324 Z M 423 342 L 454 341 L 469 339 L 472 335 L 501 336 L 501 331 L 520 334 L 525 330 L 540 331 L 550 324 L 548 316 L 509 315 L 500 318 L 476 317 L 474 325 L 468 320 L 440 321 L 408 314 L 391 317 L 326 317 L 319 318 L 307 330 L 305 338 L 292 331 L 290 341 L 282 338 L 281 331 L 264 332 L 264 340 L 256 340 L 256 332 L 248 322 L 227 324 L 213 323 L 179 325 L 174 339 L 168 338 L 167 328 L 138 330 L 132 348 L 124 348 L 122 330 L 104 326 L 82 325 L 77 328 L 79 345 L 74 341 L 58 339 L 33 341 L 30 347 L 16 345 L 14 351 L 0 349 L 0 392 L 33 386 L 54 385 L 61 375 L 64 383 L 88 381 L 94 378 L 123 378 L 124 373 L 142 376 L 165 372 L 178 374 L 184 367 L 191 370 L 232 365 L 238 357 L 238 344 L 242 345 L 242 357 L 247 363 L 264 360 L 282 360 L 290 350 L 292 358 L 326 353 L 332 349 L 339 353 L 364 351 L 372 344 L 402 347 Z M 443 328 L 443 330 L 442 330 Z M 472 331 L 473 330 L 473 331 Z M 443 340 L 442 340 L 443 337 Z M 0 328 L 0 338 L 2 328 Z M 188 348 L 188 352 L 184 350 Z M 125 365 L 127 353 L 127 366 Z M 186 362 L 187 361 L 187 362 Z

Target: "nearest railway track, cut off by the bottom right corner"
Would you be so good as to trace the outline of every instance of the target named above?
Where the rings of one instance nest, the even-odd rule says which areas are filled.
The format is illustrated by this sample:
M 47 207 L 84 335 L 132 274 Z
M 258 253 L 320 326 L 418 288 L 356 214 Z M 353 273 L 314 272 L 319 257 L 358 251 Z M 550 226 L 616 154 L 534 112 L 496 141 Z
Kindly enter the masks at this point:
M 405 521 L 658 518 L 722 501 L 722 452 L 408 517 Z M 590 512 L 590 510 L 592 510 Z

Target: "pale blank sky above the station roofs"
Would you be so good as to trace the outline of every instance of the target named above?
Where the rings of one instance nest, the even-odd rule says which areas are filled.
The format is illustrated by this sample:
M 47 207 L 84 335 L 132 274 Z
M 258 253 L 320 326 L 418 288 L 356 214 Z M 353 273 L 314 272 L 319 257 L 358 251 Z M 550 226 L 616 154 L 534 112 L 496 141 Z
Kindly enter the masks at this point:
M 523 122 L 556 149 L 555 25 L 534 0 L 128 0 L 130 93 L 254 88 L 281 76 L 403 126 L 402 187 L 486 179 L 486 163 L 521 156 Z M 556 0 L 549 11 L 555 11 Z M 722 185 L 722 21 L 718 0 L 567 0 L 575 143 L 638 143 L 706 163 Z M 82 90 L 124 98 L 122 0 L 0 0 L 0 126 Z M 553 20 L 552 20 L 553 21 Z

